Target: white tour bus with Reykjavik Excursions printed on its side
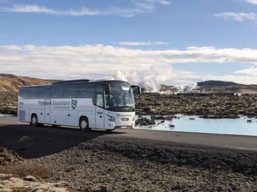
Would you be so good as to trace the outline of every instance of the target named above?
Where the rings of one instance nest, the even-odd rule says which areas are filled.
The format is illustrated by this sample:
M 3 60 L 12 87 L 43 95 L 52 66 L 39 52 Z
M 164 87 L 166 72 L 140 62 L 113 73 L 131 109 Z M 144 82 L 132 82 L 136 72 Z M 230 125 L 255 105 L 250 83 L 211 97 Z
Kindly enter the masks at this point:
M 34 127 L 43 124 L 91 129 L 134 128 L 133 89 L 119 80 L 68 80 L 23 86 L 18 96 L 18 119 Z

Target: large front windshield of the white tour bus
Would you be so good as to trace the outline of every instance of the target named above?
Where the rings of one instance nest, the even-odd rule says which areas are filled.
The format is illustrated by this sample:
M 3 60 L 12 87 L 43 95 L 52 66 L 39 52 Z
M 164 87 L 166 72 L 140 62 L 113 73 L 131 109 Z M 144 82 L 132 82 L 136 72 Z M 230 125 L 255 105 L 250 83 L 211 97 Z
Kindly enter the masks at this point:
M 111 83 L 111 91 L 105 91 L 105 109 L 119 112 L 134 112 L 135 103 L 133 89 L 130 85 Z

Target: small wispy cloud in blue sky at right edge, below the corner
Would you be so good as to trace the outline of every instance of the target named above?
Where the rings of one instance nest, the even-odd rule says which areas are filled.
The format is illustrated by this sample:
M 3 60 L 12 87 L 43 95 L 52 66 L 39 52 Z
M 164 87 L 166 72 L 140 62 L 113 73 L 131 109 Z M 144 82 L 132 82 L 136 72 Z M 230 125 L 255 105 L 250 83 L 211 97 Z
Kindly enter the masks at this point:
M 225 12 L 221 14 L 214 14 L 216 17 L 224 19 L 234 19 L 235 21 L 241 22 L 244 20 L 257 21 L 257 14 L 255 13 L 234 13 L 234 12 Z

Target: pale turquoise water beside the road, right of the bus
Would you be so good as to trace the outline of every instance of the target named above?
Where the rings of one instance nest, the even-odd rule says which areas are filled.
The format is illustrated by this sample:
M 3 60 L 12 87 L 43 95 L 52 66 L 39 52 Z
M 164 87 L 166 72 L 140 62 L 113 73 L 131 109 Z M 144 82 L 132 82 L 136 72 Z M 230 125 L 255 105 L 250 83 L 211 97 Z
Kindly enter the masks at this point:
M 160 130 L 160 131 L 182 131 L 182 132 L 199 132 L 199 133 L 217 133 L 217 134 L 235 134 L 235 135 L 252 135 L 257 136 L 257 119 L 241 117 L 239 119 L 202 119 L 198 116 L 176 115 L 180 119 L 172 121 L 156 120 L 156 125 L 137 126 L 136 129 Z M 150 116 L 143 116 L 150 119 Z M 189 120 L 194 118 L 195 120 Z M 247 123 L 252 120 L 252 123 Z M 169 125 L 174 125 L 170 128 Z

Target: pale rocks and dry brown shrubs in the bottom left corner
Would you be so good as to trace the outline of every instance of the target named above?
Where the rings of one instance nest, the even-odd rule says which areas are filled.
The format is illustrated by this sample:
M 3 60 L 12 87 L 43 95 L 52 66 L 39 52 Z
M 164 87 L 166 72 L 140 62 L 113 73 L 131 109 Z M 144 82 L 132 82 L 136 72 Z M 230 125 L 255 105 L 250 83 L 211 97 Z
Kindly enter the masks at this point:
M 66 189 L 64 186 L 67 187 L 68 183 L 65 181 L 55 183 L 45 182 L 43 178 L 49 176 L 49 170 L 36 160 L 23 159 L 15 151 L 0 147 L 0 191 L 75 191 Z M 38 179 L 35 176 L 27 175 L 27 173 L 35 175 Z

